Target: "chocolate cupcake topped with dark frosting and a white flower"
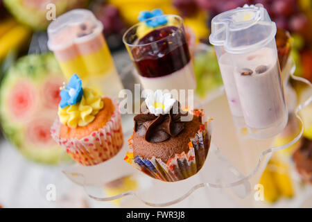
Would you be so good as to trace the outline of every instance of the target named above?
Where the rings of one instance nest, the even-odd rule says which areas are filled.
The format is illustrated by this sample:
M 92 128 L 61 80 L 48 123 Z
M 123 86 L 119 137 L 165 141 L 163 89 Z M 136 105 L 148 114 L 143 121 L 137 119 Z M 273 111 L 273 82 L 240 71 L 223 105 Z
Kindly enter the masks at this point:
M 197 173 L 205 162 L 210 144 L 203 111 L 183 112 L 171 94 L 149 94 L 134 118 L 130 139 L 132 152 L 125 160 L 159 180 L 177 181 Z

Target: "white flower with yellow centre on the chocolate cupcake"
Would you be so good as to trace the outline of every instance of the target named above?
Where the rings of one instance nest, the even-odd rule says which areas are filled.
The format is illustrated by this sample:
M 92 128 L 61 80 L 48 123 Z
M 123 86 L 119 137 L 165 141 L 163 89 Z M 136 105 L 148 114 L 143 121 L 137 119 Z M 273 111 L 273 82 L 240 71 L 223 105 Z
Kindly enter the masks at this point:
M 162 90 L 157 89 L 155 93 L 150 93 L 146 96 L 145 103 L 151 114 L 159 116 L 159 114 L 168 114 L 173 107 L 176 99 L 172 98 L 171 93 L 162 93 Z

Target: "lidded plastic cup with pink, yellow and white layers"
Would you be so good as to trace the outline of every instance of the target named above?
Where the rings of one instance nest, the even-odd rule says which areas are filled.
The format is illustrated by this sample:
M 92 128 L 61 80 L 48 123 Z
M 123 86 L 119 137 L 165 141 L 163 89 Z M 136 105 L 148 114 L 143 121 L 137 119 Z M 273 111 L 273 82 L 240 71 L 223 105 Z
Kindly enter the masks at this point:
M 123 85 L 102 31 L 91 11 L 71 10 L 49 25 L 48 46 L 67 79 L 79 74 L 84 86 L 116 97 Z

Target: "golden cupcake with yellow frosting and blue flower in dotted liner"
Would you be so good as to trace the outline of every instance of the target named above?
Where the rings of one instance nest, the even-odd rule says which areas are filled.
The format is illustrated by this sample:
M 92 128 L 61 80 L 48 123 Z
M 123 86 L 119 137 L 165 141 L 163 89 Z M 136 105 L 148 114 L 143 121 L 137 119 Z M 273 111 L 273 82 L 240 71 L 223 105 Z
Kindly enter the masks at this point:
M 118 102 L 83 88 L 76 74 L 61 88 L 60 96 L 58 118 L 51 128 L 53 139 L 85 166 L 116 155 L 123 146 Z

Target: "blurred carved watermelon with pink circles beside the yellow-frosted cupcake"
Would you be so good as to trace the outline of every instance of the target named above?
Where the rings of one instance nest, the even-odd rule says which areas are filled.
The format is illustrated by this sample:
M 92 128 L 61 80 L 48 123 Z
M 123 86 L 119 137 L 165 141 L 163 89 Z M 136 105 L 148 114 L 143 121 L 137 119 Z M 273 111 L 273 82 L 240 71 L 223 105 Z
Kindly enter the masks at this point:
M 47 53 L 19 58 L 1 82 L 3 133 L 21 153 L 36 162 L 57 164 L 65 155 L 50 134 L 63 81 L 53 54 Z

